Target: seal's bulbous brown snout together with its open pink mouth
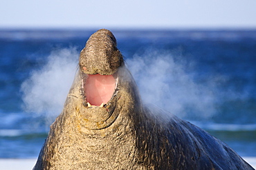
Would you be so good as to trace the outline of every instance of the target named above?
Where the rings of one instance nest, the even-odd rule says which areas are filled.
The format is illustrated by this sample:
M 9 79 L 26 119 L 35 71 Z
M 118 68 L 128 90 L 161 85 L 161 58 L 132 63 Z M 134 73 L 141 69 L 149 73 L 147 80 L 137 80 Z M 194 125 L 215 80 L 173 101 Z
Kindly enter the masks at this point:
M 116 72 L 123 64 L 122 54 L 116 45 L 112 32 L 102 29 L 90 36 L 80 53 L 84 99 L 88 107 L 103 107 L 116 90 Z

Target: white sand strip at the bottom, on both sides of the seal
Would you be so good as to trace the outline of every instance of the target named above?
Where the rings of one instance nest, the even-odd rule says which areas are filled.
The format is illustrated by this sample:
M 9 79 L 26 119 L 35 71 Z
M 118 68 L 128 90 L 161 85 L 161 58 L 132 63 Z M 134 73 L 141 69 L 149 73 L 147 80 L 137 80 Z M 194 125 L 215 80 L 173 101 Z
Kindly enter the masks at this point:
M 245 157 L 244 160 L 256 168 L 256 157 Z M 1 170 L 33 169 L 37 159 L 0 159 Z

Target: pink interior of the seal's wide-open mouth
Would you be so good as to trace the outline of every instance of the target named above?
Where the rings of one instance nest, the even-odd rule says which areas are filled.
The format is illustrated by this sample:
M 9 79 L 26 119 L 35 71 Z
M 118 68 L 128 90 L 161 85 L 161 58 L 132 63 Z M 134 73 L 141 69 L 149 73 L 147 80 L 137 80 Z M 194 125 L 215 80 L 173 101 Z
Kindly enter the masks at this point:
M 113 96 L 115 87 L 116 79 L 113 75 L 88 74 L 84 85 L 86 101 L 95 106 L 105 104 Z

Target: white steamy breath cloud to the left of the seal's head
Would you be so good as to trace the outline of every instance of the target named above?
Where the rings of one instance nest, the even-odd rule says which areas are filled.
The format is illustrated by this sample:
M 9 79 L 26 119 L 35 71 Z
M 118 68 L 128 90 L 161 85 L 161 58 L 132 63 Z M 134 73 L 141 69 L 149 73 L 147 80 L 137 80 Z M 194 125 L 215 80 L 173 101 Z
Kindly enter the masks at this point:
M 75 48 L 55 50 L 46 65 L 31 72 L 21 85 L 26 111 L 45 114 L 49 119 L 60 114 L 75 76 L 78 56 Z

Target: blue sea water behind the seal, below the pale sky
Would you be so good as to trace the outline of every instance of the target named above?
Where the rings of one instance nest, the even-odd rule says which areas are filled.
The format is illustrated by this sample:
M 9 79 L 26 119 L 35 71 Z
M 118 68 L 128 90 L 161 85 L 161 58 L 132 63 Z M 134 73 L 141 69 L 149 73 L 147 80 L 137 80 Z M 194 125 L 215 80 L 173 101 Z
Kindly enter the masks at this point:
M 256 156 L 256 30 L 112 31 L 145 102 Z M 0 158 L 38 156 L 93 32 L 0 30 Z

